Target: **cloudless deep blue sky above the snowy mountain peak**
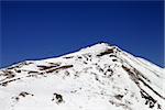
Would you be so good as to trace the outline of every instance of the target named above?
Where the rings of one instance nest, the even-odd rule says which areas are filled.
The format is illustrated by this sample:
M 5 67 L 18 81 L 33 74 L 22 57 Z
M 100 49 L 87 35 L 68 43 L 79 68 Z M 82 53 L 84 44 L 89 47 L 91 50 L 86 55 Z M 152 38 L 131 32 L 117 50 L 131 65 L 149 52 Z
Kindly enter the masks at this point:
M 163 67 L 163 1 L 1 2 L 0 67 L 102 41 Z

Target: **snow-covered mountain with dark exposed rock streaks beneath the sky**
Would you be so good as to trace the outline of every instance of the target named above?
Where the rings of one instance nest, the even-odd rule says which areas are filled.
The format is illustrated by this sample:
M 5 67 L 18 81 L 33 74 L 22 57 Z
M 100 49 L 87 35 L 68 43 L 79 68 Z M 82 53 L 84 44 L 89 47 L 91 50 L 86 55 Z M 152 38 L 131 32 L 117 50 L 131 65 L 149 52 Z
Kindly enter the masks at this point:
M 106 43 L 0 69 L 0 110 L 165 110 L 165 72 Z

